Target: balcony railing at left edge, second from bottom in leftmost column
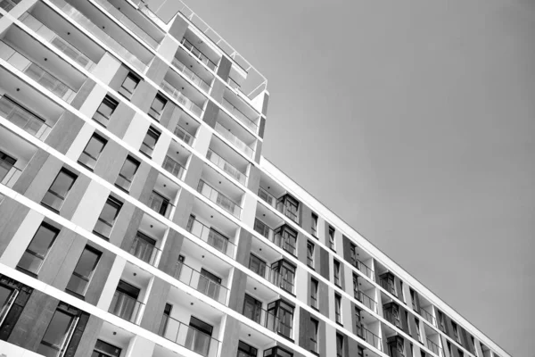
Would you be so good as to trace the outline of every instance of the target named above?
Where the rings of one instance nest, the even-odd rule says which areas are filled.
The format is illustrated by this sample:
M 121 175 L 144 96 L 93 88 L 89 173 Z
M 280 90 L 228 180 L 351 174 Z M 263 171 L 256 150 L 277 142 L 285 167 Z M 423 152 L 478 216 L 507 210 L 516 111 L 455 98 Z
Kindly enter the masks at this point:
M 6 96 L 0 97 L 0 115 L 42 141 L 52 131 L 52 127 L 46 125 L 45 120 L 37 117 L 37 115 L 29 112 L 29 110 Z

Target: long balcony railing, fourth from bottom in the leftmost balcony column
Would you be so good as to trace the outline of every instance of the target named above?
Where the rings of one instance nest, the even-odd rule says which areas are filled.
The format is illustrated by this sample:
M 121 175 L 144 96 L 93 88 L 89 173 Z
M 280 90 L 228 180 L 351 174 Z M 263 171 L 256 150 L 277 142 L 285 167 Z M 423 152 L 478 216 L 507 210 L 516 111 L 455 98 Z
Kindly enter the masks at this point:
M 91 71 L 93 67 L 95 67 L 95 62 L 92 62 L 85 54 L 78 51 L 78 48 L 70 45 L 70 43 L 65 41 L 62 37 L 59 37 L 52 29 L 48 29 L 41 21 L 38 21 L 28 12 L 21 16 L 21 21 L 30 29 L 33 29 L 39 37 L 56 47 L 71 60 L 84 67 L 87 71 Z

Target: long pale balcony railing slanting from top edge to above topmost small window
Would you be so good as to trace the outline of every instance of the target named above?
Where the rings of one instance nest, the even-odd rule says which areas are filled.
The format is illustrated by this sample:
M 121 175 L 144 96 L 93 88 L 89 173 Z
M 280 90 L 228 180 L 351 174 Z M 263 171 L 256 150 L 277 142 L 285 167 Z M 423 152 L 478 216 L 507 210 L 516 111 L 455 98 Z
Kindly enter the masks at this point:
M 109 46 L 115 53 L 119 54 L 125 61 L 135 67 L 137 70 L 144 72 L 147 69 L 147 65 L 141 62 L 136 55 L 130 53 L 128 49 L 121 46 L 119 42 L 110 37 L 100 27 L 96 26 L 93 21 L 86 18 L 82 12 L 79 12 L 74 6 L 67 4 L 63 0 L 50 0 L 54 5 L 62 10 L 72 21 L 78 23 L 93 36 L 100 39 L 105 45 Z

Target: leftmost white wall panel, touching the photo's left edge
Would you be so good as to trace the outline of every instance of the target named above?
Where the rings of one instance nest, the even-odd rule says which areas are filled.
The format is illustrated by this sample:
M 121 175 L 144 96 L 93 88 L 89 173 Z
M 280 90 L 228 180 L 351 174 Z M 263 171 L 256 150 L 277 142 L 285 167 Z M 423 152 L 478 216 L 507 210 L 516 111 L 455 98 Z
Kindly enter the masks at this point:
M 21 227 L 19 227 L 9 245 L 5 248 L 4 254 L 0 258 L 1 263 L 11 268 L 17 266 L 44 217 L 42 214 L 33 210 L 28 212 L 24 220 L 22 220 Z

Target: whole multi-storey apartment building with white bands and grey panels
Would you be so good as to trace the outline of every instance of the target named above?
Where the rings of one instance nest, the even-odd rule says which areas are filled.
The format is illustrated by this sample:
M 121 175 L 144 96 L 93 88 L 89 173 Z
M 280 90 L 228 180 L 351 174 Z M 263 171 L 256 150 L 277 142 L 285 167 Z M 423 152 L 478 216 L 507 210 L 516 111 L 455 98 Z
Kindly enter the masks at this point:
M 178 0 L 0 0 L 0 356 L 506 357 L 261 156 L 267 107 Z

